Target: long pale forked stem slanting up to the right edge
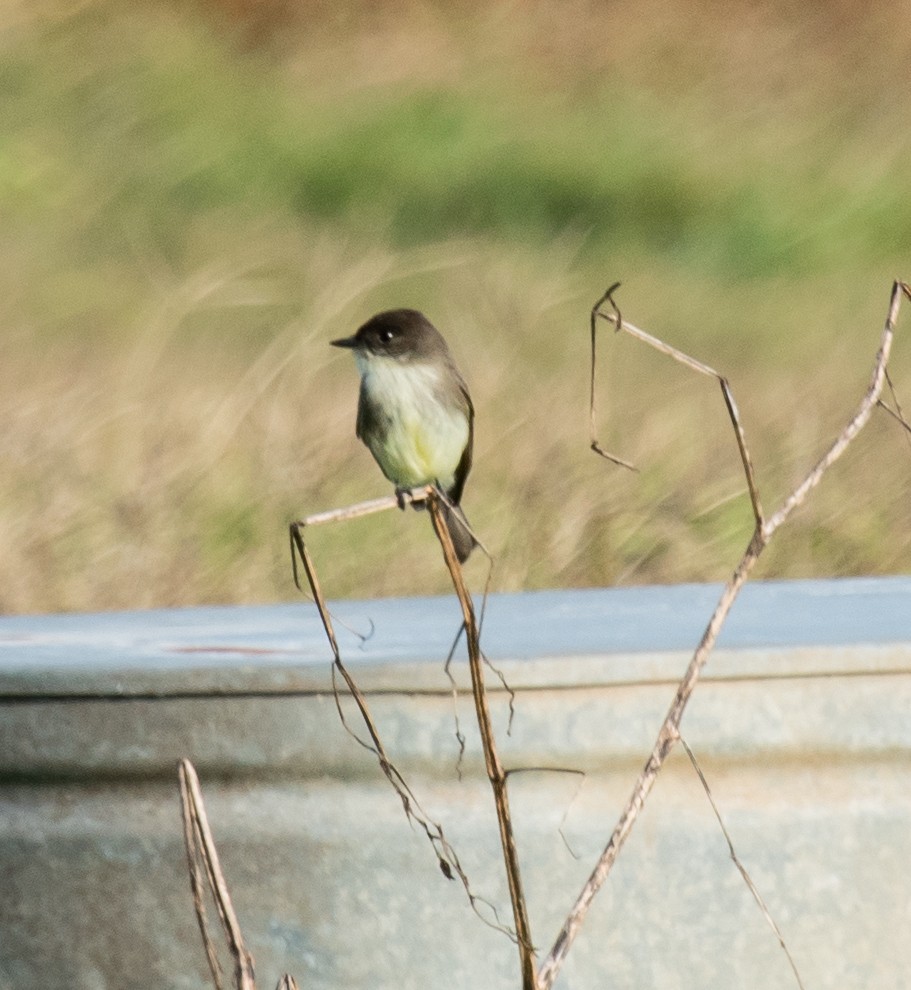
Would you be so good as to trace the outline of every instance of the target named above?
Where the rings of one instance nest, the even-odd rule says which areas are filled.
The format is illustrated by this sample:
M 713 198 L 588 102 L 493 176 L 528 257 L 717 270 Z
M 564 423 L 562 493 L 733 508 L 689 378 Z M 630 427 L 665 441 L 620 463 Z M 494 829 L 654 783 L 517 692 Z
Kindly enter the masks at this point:
M 627 805 L 620 815 L 620 819 L 617 822 L 617 825 L 614 828 L 614 831 L 605 846 L 601 857 L 595 865 L 594 870 L 586 881 L 585 886 L 582 888 L 582 891 L 580 892 L 576 903 L 573 905 L 572 910 L 569 912 L 569 915 L 567 916 L 550 953 L 543 961 L 541 968 L 538 971 L 540 990 L 549 990 L 549 988 L 553 985 L 557 973 L 559 972 L 560 967 L 562 966 L 563 961 L 566 958 L 576 935 L 578 934 L 579 927 L 588 912 L 592 899 L 607 879 L 607 876 L 610 873 L 623 843 L 626 841 L 626 838 L 632 830 L 636 818 L 639 815 L 639 811 L 654 786 L 658 772 L 664 764 L 668 754 L 673 749 L 674 744 L 677 742 L 679 738 L 680 722 L 683 718 L 684 710 L 686 709 L 687 702 L 696 687 L 702 668 L 708 660 L 709 654 L 715 645 L 715 640 L 718 637 L 718 633 L 731 610 L 731 606 L 734 604 L 740 589 L 749 577 L 749 574 L 755 566 L 756 561 L 759 559 L 760 554 L 768 545 L 779 526 L 781 526 L 782 523 L 788 519 L 794 509 L 796 509 L 804 501 L 810 491 L 812 491 L 812 489 L 819 484 L 826 470 L 844 453 L 851 441 L 867 423 L 873 413 L 873 410 L 879 403 L 880 393 L 882 392 L 883 384 L 885 382 L 886 366 L 888 364 L 889 354 L 892 349 L 895 323 L 898 318 L 902 294 L 911 298 L 911 289 L 909 289 L 909 287 L 903 282 L 895 282 L 892 287 L 889 312 L 886 317 L 885 326 L 880 339 L 879 350 L 876 354 L 870 385 L 868 386 L 857 411 L 835 439 L 832 446 L 828 449 L 828 451 L 826 451 L 806 478 L 804 478 L 797 488 L 794 489 L 792 494 L 785 499 L 781 508 L 768 520 L 763 521 L 761 510 L 758 508 L 758 496 L 754 496 L 753 509 L 757 524 L 752 539 L 750 540 L 740 563 L 737 565 L 736 570 L 724 587 L 721 598 L 719 599 L 718 604 L 715 607 L 715 611 L 712 614 L 712 617 L 706 626 L 705 632 L 702 635 L 702 639 L 696 647 L 689 666 L 686 669 L 686 673 L 677 688 L 677 692 L 674 695 L 674 700 L 667 715 L 665 716 L 664 722 L 661 725 L 658 737 L 655 740 L 655 745 L 652 749 L 651 755 L 639 775 L 639 779 L 636 781 L 636 785 L 633 788 L 633 792 L 630 795 Z M 605 316 L 605 318 L 610 319 L 610 317 L 607 316 Z M 694 370 L 720 377 L 707 366 L 701 365 L 700 362 L 694 361 L 692 358 L 681 354 L 679 351 L 675 351 L 674 348 L 668 347 L 668 345 L 658 341 L 656 338 L 650 337 L 642 331 L 637 331 L 635 328 L 632 328 L 631 330 L 628 324 L 624 323 L 621 324 L 621 326 L 624 330 L 627 330 L 627 332 L 633 332 L 634 336 L 645 340 L 647 343 L 651 343 L 658 350 L 665 354 L 670 354 L 671 356 L 682 361 L 682 363 L 694 368 Z M 726 392 L 725 394 L 727 398 L 728 393 Z M 728 403 L 728 411 L 731 414 L 734 429 L 738 436 L 738 443 L 741 443 L 742 430 L 740 429 L 739 422 L 736 419 L 736 407 L 734 407 L 732 403 Z M 741 450 L 743 452 L 744 448 L 742 447 Z M 748 456 L 745 456 L 744 467 L 747 471 L 751 495 L 753 495 L 754 487 L 749 478 L 751 469 L 747 467 L 748 464 L 749 458 Z

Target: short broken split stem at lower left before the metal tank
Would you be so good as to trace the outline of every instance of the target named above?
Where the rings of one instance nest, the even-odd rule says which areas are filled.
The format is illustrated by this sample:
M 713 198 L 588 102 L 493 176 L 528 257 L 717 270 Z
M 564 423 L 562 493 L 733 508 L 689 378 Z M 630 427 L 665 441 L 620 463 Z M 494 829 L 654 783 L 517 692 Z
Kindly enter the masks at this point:
M 225 882 L 221 863 L 218 859 L 218 850 L 215 848 L 215 840 L 212 838 L 209 820 L 206 817 L 199 778 L 193 764 L 186 759 L 179 762 L 178 774 L 180 777 L 180 804 L 183 812 L 184 840 L 187 847 L 187 862 L 190 867 L 193 902 L 215 985 L 221 987 L 221 973 L 206 927 L 202 878 L 199 869 L 200 860 L 205 865 L 209 889 L 215 900 L 222 930 L 234 959 L 234 986 L 237 990 L 256 990 L 256 984 L 253 980 L 253 956 L 247 950 L 237 915 L 234 913 L 234 905 L 231 903 L 231 895 L 228 893 L 228 885 Z

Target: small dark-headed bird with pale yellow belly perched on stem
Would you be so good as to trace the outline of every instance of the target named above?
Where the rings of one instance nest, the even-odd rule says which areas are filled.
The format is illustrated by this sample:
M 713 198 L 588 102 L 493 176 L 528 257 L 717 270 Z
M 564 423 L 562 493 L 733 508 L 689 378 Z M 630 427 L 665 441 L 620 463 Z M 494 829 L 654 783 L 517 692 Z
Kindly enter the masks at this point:
M 459 502 L 471 470 L 474 407 L 439 330 L 416 309 L 369 319 L 349 347 L 361 373 L 357 435 L 396 492 L 436 485 L 449 499 L 443 514 L 463 563 L 475 541 Z

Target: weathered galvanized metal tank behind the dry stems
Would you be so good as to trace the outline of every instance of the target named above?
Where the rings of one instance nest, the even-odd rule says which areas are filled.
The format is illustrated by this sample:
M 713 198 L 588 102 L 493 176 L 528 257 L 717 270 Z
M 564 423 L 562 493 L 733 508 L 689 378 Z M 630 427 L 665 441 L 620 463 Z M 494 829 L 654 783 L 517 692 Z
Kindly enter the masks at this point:
M 586 773 L 578 793 L 567 774 L 511 778 L 542 946 L 613 827 L 717 594 L 541 592 L 488 607 L 486 652 L 518 689 L 506 736 L 507 699 L 490 677 L 504 762 Z M 456 603 L 340 602 L 333 613 L 391 754 L 505 916 L 471 731 L 462 780 L 455 772 L 442 662 Z M 200 771 L 262 987 L 285 970 L 319 990 L 517 985 L 513 946 L 439 873 L 341 726 L 329 660 L 307 604 L 0 619 L 2 990 L 209 985 L 185 875 L 181 756 Z M 469 730 L 469 699 L 458 708 Z M 889 578 L 748 586 L 684 719 L 808 987 L 897 987 L 911 971 L 909 713 L 911 580 Z M 684 758 L 662 774 L 559 985 L 794 985 Z

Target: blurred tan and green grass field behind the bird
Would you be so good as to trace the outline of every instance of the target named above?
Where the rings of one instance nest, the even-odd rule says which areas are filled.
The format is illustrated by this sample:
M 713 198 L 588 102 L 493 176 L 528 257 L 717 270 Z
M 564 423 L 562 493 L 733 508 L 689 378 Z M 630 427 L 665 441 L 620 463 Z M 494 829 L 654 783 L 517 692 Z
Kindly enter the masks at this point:
M 724 578 L 751 517 L 717 387 L 605 334 L 600 436 L 641 473 L 610 467 L 588 311 L 621 280 L 625 318 L 728 375 L 774 508 L 911 276 L 909 15 L 7 3 L 0 610 L 294 597 L 287 522 L 388 489 L 327 341 L 400 305 L 470 382 L 496 588 Z M 879 417 L 763 576 L 907 570 L 909 480 Z M 311 542 L 330 596 L 447 587 L 424 516 Z

